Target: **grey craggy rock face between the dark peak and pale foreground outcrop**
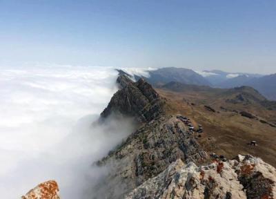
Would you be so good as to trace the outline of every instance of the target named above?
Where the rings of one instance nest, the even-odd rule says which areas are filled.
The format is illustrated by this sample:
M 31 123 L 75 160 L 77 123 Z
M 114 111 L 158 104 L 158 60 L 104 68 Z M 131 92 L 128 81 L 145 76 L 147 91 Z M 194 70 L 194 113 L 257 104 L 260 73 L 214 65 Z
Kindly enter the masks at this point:
M 105 187 L 113 193 L 116 193 L 112 191 L 115 189 L 128 193 L 179 158 L 186 163 L 201 163 L 208 160 L 208 155 L 177 117 L 152 120 L 99 162 L 99 165 L 109 165 L 111 169 L 104 185 L 97 187 L 97 190 Z M 117 187 L 119 184 L 120 188 Z M 108 193 L 106 198 L 122 198 L 113 193 Z

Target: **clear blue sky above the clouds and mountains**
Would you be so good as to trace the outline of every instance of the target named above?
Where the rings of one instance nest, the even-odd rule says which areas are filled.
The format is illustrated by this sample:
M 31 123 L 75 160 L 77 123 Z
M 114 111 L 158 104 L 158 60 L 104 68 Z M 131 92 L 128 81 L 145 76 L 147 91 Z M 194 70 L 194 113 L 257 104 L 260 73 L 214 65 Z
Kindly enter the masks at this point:
M 0 0 L 0 66 L 276 73 L 276 1 Z

